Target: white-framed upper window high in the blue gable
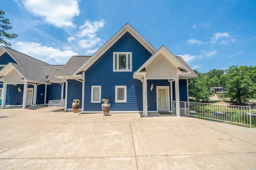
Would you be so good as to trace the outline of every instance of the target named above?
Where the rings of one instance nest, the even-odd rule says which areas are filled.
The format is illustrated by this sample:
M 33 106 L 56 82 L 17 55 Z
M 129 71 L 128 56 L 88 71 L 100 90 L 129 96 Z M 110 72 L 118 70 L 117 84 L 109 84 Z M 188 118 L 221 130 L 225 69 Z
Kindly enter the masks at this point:
M 113 71 L 132 71 L 132 52 L 114 52 Z

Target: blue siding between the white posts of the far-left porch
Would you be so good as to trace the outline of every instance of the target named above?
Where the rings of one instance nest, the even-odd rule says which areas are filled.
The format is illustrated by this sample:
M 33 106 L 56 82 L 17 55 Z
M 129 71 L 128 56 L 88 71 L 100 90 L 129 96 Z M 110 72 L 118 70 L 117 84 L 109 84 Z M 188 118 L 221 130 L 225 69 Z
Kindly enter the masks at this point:
M 21 92 L 18 92 L 18 87 L 21 88 Z M 6 87 L 6 105 L 22 105 L 24 84 L 7 84 Z

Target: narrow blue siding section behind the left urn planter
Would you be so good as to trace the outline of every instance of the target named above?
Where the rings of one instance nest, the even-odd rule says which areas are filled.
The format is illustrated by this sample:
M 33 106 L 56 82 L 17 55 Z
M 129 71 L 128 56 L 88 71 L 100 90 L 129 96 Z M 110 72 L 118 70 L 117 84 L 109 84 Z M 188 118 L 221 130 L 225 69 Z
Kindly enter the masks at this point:
M 74 99 L 79 99 L 80 102 L 82 102 L 82 82 L 77 80 L 68 80 L 68 109 L 72 108 L 72 102 Z M 81 103 L 79 108 L 82 108 Z

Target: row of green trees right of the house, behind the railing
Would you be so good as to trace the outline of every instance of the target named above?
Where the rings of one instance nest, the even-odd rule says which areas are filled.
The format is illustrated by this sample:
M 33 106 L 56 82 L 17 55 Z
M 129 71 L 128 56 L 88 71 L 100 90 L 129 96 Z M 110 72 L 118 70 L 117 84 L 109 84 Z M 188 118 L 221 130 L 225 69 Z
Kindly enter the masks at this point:
M 188 79 L 188 95 L 196 102 L 210 102 L 210 96 L 215 93 L 210 87 L 218 86 L 224 87 L 226 98 L 239 105 L 256 98 L 256 66 L 230 66 L 226 70 L 194 72 L 198 78 Z

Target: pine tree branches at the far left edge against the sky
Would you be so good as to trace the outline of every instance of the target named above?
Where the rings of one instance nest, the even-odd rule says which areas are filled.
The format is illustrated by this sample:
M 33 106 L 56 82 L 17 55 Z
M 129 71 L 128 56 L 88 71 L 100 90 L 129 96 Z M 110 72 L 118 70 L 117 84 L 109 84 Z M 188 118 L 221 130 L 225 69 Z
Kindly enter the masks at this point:
M 7 47 L 12 46 L 11 43 L 8 43 L 5 39 L 14 39 L 18 35 L 15 33 L 7 33 L 6 31 L 12 29 L 12 26 L 9 25 L 9 19 L 4 18 L 4 11 L 0 10 L 0 43 L 3 43 Z

